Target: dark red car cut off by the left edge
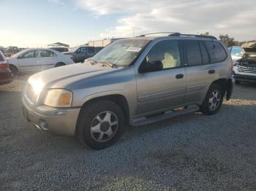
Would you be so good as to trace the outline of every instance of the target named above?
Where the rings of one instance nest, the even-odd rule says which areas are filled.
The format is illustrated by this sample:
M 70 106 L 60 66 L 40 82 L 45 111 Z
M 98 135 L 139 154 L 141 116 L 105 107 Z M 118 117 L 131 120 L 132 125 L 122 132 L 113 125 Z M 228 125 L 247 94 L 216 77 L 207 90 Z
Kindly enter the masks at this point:
M 12 82 L 12 72 L 4 54 L 0 51 L 0 85 Z

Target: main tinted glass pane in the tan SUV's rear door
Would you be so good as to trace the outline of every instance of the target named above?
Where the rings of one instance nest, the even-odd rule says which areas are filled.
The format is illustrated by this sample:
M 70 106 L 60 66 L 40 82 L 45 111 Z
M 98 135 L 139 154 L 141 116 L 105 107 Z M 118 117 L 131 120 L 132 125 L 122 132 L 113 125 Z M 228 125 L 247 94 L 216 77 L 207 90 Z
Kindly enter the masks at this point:
M 196 66 L 202 64 L 199 42 L 196 40 L 184 40 L 185 50 L 187 51 L 187 64 Z

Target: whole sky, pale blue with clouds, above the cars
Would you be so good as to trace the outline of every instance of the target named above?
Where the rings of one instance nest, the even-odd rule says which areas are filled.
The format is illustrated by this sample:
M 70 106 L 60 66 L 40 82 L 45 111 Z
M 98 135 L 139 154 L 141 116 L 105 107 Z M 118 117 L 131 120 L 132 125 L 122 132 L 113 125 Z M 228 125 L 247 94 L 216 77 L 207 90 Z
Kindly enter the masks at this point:
M 0 46 L 70 47 L 159 31 L 256 40 L 255 0 L 0 0 Z

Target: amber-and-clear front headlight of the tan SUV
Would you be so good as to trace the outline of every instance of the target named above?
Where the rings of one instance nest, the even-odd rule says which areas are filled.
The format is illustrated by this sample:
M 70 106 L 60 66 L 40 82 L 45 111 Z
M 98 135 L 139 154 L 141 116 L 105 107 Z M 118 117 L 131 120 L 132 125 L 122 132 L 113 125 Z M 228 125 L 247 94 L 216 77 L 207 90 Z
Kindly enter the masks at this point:
M 44 104 L 52 107 L 69 107 L 72 104 L 72 92 L 64 89 L 48 90 Z

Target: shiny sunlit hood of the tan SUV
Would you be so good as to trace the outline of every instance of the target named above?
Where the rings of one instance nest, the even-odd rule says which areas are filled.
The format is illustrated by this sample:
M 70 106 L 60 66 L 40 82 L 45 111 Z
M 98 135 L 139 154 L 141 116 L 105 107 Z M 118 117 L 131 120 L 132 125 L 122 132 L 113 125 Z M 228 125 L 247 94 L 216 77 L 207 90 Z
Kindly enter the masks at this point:
M 88 63 L 76 63 L 69 66 L 61 66 L 54 69 L 41 71 L 29 77 L 29 84 L 39 89 L 42 88 L 66 88 L 73 82 L 94 77 L 113 71 L 110 67 L 102 67 L 100 64 L 91 66 Z

